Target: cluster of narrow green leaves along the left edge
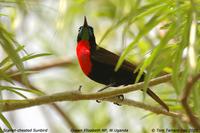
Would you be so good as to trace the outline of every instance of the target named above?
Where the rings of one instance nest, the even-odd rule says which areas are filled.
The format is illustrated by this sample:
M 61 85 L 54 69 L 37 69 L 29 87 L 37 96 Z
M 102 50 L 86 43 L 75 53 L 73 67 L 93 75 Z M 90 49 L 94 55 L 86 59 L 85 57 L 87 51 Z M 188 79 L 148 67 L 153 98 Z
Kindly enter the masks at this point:
M 14 4 L 14 5 L 13 5 Z M 0 1 L 0 5 L 2 5 L 1 10 L 4 10 L 8 8 L 8 6 L 11 6 L 13 9 L 17 7 L 22 7 L 22 9 L 25 9 L 25 1 Z M 17 9 L 15 9 L 17 10 Z M 11 17 L 8 14 L 1 13 L 2 20 L 0 21 L 0 44 L 2 47 L 2 57 L 0 62 L 0 92 L 7 90 L 11 93 L 15 93 L 22 98 L 27 98 L 24 94 L 22 94 L 20 91 L 26 91 L 30 93 L 39 94 L 40 92 L 36 90 L 28 90 L 24 88 L 15 87 L 15 79 L 13 79 L 13 75 L 16 73 L 22 75 L 22 81 L 28 84 L 27 74 L 24 67 L 24 61 L 30 60 L 32 58 L 41 57 L 48 54 L 28 54 L 25 51 L 24 45 L 21 45 L 17 42 L 15 39 L 15 33 L 9 30 L 11 28 L 11 25 L 8 25 L 6 22 L 3 21 L 3 17 L 6 17 L 6 19 L 11 19 Z M 23 55 L 23 56 L 22 56 Z M 13 68 L 16 68 L 16 73 L 13 73 Z M 2 83 L 6 83 L 9 86 L 3 86 Z M 2 98 L 2 93 L 1 93 Z M 8 120 L 3 116 L 2 113 L 0 113 L 0 119 L 4 122 L 4 124 L 12 130 L 11 125 L 9 124 Z

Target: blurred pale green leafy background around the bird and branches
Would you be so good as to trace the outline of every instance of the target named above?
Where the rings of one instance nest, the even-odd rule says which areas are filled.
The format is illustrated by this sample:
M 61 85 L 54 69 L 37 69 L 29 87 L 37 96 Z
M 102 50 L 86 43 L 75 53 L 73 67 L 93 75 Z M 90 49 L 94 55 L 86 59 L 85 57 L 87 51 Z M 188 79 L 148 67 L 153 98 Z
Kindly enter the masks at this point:
M 187 78 L 200 70 L 199 8 L 199 0 L 0 0 L 1 99 L 36 97 L 29 91 L 33 88 L 46 94 L 77 90 L 80 85 L 84 92 L 102 88 L 103 85 L 83 74 L 76 58 L 78 28 L 87 16 L 97 44 L 121 54 L 119 64 L 128 59 L 138 64 L 141 72 L 146 70 L 146 84 L 162 73 L 171 73 L 172 82 L 157 85 L 154 90 L 170 110 L 184 113 L 179 102 L 181 92 Z M 194 44 L 191 44 L 192 37 Z M 56 62 L 67 63 L 28 71 Z M 13 75 L 21 77 L 16 79 Z M 199 116 L 199 83 L 193 90 L 190 105 Z M 140 91 L 125 97 L 143 101 Z M 144 102 L 157 106 L 148 96 Z M 0 127 L 48 128 L 52 133 L 70 132 L 72 126 L 128 129 L 130 133 L 191 127 L 177 118 L 108 102 L 76 101 L 57 105 L 69 120 L 54 107 L 43 105 L 1 113 Z

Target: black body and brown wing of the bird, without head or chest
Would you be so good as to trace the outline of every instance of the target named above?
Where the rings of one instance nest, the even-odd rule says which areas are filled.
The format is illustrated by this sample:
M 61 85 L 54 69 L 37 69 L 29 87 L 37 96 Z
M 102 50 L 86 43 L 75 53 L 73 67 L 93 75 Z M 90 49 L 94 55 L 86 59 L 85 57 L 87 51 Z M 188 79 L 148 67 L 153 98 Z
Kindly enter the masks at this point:
M 93 64 L 91 73 L 88 75 L 92 80 L 113 86 L 133 84 L 138 73 L 133 73 L 136 66 L 124 61 L 118 71 L 114 71 L 119 56 L 101 47 L 91 51 Z M 143 79 L 143 75 L 141 77 Z

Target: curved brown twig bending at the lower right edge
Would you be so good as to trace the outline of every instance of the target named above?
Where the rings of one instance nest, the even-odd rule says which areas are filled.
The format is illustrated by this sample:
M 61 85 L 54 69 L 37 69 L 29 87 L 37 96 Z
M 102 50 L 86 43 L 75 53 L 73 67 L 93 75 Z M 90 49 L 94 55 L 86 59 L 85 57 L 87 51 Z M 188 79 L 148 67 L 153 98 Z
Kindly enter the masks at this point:
M 197 82 L 197 80 L 199 80 L 199 78 L 200 78 L 200 74 L 198 74 L 194 78 L 192 78 L 192 77 L 188 78 L 188 82 L 183 90 L 183 94 L 181 97 L 181 102 L 182 102 L 183 108 L 185 109 L 185 112 L 190 120 L 190 123 L 196 129 L 200 129 L 200 123 L 199 123 L 200 120 L 193 115 L 192 110 L 190 109 L 187 101 L 188 101 L 188 98 L 192 91 L 192 87 Z

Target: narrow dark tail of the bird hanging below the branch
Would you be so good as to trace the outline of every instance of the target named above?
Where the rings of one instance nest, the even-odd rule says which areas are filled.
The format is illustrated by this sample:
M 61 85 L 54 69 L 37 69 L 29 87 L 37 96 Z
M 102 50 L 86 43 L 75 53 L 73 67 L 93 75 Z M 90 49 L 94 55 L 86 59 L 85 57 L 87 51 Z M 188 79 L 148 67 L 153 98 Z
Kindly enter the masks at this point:
M 158 102 L 163 108 L 169 111 L 169 107 L 149 88 L 147 89 L 147 94 L 151 96 L 156 102 Z

